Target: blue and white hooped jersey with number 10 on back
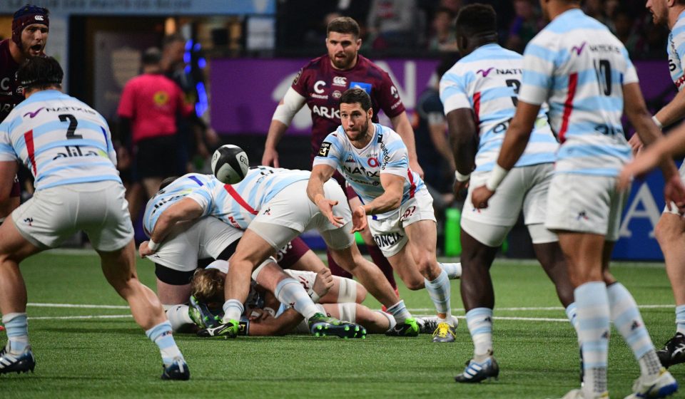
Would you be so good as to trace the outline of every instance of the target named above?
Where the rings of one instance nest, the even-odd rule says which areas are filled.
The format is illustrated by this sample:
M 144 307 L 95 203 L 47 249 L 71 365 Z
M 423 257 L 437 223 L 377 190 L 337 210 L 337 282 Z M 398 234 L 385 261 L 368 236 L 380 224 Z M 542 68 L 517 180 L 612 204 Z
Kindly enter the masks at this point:
M 617 176 L 632 157 L 621 125 L 623 86 L 638 81 L 621 41 L 572 9 L 528 43 L 523 68 L 519 100 L 547 101 L 562 142 L 555 172 Z

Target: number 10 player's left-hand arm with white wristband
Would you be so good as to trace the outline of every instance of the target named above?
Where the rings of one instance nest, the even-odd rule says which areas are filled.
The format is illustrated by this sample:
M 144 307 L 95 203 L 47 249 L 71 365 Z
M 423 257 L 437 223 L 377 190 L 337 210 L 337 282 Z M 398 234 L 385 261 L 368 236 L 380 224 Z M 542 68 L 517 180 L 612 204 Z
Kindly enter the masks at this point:
M 494 195 L 494 190 L 497 190 L 499 183 L 504 180 L 504 177 L 507 177 L 509 170 L 516 165 L 526 150 L 539 110 L 540 105 L 529 104 L 519 98 L 516 114 L 514 114 L 512 122 L 509 123 L 507 133 L 504 133 L 504 142 L 502 142 L 502 149 L 499 150 L 497 164 L 494 165 L 490 178 L 485 185 L 478 187 L 471 195 L 471 202 L 474 207 L 487 208 L 487 202 Z

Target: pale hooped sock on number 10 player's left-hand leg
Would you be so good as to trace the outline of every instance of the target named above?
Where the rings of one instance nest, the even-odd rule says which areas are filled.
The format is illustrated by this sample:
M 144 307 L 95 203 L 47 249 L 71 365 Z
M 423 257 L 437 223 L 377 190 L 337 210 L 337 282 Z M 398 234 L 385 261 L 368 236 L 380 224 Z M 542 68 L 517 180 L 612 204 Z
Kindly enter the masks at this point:
M 578 338 L 583 343 L 583 390 L 586 398 L 607 392 L 609 296 L 603 281 L 590 281 L 574 291 Z

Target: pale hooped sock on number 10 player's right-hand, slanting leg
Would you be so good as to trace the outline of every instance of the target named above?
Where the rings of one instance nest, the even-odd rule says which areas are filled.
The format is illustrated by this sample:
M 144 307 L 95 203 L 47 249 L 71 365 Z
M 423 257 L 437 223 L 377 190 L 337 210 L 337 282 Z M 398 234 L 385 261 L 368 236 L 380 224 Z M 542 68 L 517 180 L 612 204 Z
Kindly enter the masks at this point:
M 661 363 L 633 296 L 621 283 L 608 286 L 607 294 L 614 326 L 640 363 L 642 375 L 658 375 Z

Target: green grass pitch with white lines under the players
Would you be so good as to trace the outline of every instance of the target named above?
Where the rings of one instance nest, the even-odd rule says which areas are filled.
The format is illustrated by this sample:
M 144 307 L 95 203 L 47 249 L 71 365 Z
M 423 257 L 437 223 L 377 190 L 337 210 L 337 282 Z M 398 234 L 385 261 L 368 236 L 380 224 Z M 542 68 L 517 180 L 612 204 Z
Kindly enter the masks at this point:
M 25 261 L 21 270 L 37 364 L 34 374 L 0 376 L 5 398 L 559 398 L 579 386 L 574 333 L 552 284 L 532 261 L 495 261 L 494 345 L 501 371 L 499 380 L 476 385 L 453 380 L 472 353 L 463 318 L 454 344 L 431 343 L 430 335 L 206 340 L 176 334 L 191 380 L 162 381 L 157 348 L 128 316 L 93 252 L 44 253 Z M 675 330 L 662 265 L 614 264 L 613 271 L 635 296 L 661 347 Z M 149 261 L 138 261 L 138 273 L 154 287 Z M 400 286 L 400 295 L 414 314 L 432 314 L 425 291 Z M 379 307 L 373 299 L 366 304 Z M 458 281 L 452 282 L 452 306 L 455 315 L 464 316 Z M 4 344 L 4 333 L 0 336 Z M 671 372 L 683 383 L 685 365 Z M 638 375 L 629 348 L 613 330 L 612 398 L 628 395 Z

